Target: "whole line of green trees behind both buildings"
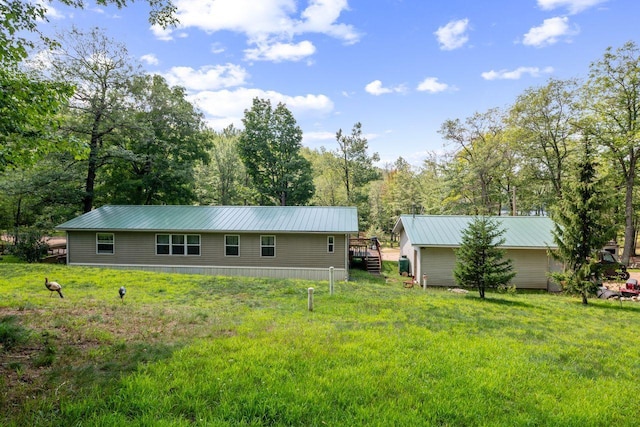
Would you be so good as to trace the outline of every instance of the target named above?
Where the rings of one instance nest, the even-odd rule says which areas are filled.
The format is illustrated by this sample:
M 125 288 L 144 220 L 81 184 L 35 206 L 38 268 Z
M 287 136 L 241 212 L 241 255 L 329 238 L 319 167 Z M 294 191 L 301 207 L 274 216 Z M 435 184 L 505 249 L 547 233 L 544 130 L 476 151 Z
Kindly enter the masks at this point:
M 104 204 L 349 205 L 377 236 L 402 213 L 552 215 L 589 146 L 603 218 L 620 225 L 623 261 L 635 251 L 633 41 L 608 48 L 584 79 L 549 79 L 506 108 L 446 120 L 445 151 L 419 166 L 380 165 L 361 123 L 328 147 L 304 147 L 291 111 L 265 99 L 247 106 L 243 129 L 211 129 L 184 88 L 143 73 L 99 29 L 26 52 L 0 50 L 0 229 L 50 230 Z

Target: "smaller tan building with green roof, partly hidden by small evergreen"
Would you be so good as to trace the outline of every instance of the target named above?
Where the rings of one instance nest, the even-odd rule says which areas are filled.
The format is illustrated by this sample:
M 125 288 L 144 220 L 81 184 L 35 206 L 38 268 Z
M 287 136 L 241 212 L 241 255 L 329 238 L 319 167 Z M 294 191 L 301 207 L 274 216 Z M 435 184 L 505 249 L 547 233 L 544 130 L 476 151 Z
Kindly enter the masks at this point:
M 539 216 L 491 218 L 505 230 L 502 247 L 517 273 L 512 283 L 518 289 L 559 290 L 548 278 L 549 272 L 562 270 L 562 265 L 548 254 L 548 248 L 556 247 L 553 221 Z M 411 275 L 422 283 L 426 274 L 428 286 L 454 286 L 455 250 L 460 247 L 462 232 L 473 219 L 473 216 L 402 215 L 393 232 L 399 235 L 400 256 L 408 259 Z

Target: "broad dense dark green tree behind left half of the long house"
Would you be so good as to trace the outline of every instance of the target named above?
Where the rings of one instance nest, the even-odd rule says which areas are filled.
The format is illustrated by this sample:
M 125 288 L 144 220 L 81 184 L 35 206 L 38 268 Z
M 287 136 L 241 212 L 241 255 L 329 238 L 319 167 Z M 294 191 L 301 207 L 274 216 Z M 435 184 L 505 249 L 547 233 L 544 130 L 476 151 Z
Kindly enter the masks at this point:
M 130 92 L 132 120 L 113 138 L 103 193 L 119 204 L 193 203 L 194 166 L 209 159 L 202 113 L 158 75 L 134 77 Z

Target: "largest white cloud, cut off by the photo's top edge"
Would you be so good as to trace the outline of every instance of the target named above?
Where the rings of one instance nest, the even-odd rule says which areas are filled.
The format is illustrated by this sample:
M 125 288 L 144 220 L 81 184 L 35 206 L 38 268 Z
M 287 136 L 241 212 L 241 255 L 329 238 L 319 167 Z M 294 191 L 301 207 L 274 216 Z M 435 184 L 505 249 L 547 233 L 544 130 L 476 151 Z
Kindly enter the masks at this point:
M 338 22 L 348 9 L 347 0 L 309 0 L 299 12 L 295 0 L 176 0 L 177 30 L 196 28 L 207 33 L 232 31 L 244 34 L 250 46 L 248 60 L 299 61 L 315 53 L 309 41 L 295 37 L 319 33 L 353 44 L 361 35 Z M 151 28 L 160 40 L 171 40 L 176 30 Z

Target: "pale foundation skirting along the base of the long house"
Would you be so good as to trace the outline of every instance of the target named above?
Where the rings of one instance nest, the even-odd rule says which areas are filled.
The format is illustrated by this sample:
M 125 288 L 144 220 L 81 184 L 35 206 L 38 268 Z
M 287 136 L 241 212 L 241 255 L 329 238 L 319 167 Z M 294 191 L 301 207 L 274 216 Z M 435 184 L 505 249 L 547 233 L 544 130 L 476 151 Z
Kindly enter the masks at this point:
M 273 277 L 278 279 L 303 279 L 329 281 L 329 268 L 291 268 L 291 267 L 203 267 L 174 265 L 138 265 L 138 264 L 93 264 L 70 263 L 70 266 L 100 267 L 114 270 L 140 270 L 160 273 L 202 274 L 208 276 L 245 276 Z M 334 268 L 334 280 L 348 280 L 348 271 Z

